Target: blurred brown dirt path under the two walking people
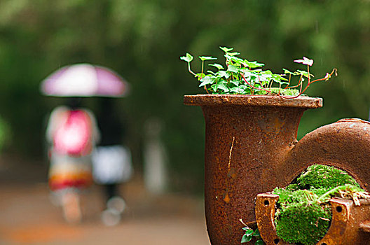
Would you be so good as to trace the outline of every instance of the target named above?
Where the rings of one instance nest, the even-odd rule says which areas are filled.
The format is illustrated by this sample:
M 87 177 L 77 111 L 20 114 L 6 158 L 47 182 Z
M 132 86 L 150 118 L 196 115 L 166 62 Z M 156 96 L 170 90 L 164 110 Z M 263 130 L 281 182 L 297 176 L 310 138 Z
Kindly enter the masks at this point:
M 45 182 L 18 181 L 11 174 L 12 169 L 0 169 L 0 245 L 210 244 L 201 198 L 151 197 L 133 181 L 123 189 L 129 207 L 123 221 L 106 227 L 100 221 L 100 188 L 95 186 L 83 200 L 83 223 L 68 225 L 60 208 L 51 204 Z

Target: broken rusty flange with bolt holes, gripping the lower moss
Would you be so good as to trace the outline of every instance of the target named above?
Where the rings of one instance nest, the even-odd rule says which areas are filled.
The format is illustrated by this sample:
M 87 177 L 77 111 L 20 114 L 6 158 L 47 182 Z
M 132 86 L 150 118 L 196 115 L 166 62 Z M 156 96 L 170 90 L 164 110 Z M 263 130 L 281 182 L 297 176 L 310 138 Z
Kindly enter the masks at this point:
M 263 241 L 267 245 L 289 245 L 282 241 L 275 229 L 275 203 L 279 196 L 270 193 L 257 195 L 256 222 Z M 360 200 L 356 206 L 352 200 L 331 198 L 331 225 L 317 245 L 364 245 L 370 244 L 370 200 Z

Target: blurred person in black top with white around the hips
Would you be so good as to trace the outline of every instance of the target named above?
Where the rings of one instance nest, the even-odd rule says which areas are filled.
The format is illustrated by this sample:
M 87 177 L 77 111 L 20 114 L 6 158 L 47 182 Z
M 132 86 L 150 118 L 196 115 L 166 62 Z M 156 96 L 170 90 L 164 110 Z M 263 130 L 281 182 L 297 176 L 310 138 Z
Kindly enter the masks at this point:
M 117 225 L 126 204 L 119 186 L 132 176 L 131 154 L 123 146 L 125 128 L 114 111 L 114 99 L 100 98 L 98 127 L 102 139 L 93 153 L 93 176 L 102 185 L 105 195 L 105 210 L 102 212 L 104 225 Z

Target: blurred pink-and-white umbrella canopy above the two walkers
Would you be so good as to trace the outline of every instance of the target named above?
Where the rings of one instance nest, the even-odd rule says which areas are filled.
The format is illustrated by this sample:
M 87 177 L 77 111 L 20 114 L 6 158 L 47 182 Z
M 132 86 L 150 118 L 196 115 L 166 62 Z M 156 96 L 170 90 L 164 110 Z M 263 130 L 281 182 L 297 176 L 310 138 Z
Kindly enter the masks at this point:
M 102 66 L 74 64 L 53 72 L 41 83 L 41 92 L 59 97 L 123 97 L 128 83 Z

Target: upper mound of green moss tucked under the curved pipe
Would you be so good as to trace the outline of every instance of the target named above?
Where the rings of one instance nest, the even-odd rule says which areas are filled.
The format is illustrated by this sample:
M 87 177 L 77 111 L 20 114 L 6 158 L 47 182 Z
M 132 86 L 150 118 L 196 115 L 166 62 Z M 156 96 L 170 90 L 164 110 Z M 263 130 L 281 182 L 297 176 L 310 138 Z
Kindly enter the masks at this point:
M 341 169 L 326 165 L 312 165 L 296 181 L 299 189 L 335 188 L 350 184 L 358 186 L 355 179 Z

